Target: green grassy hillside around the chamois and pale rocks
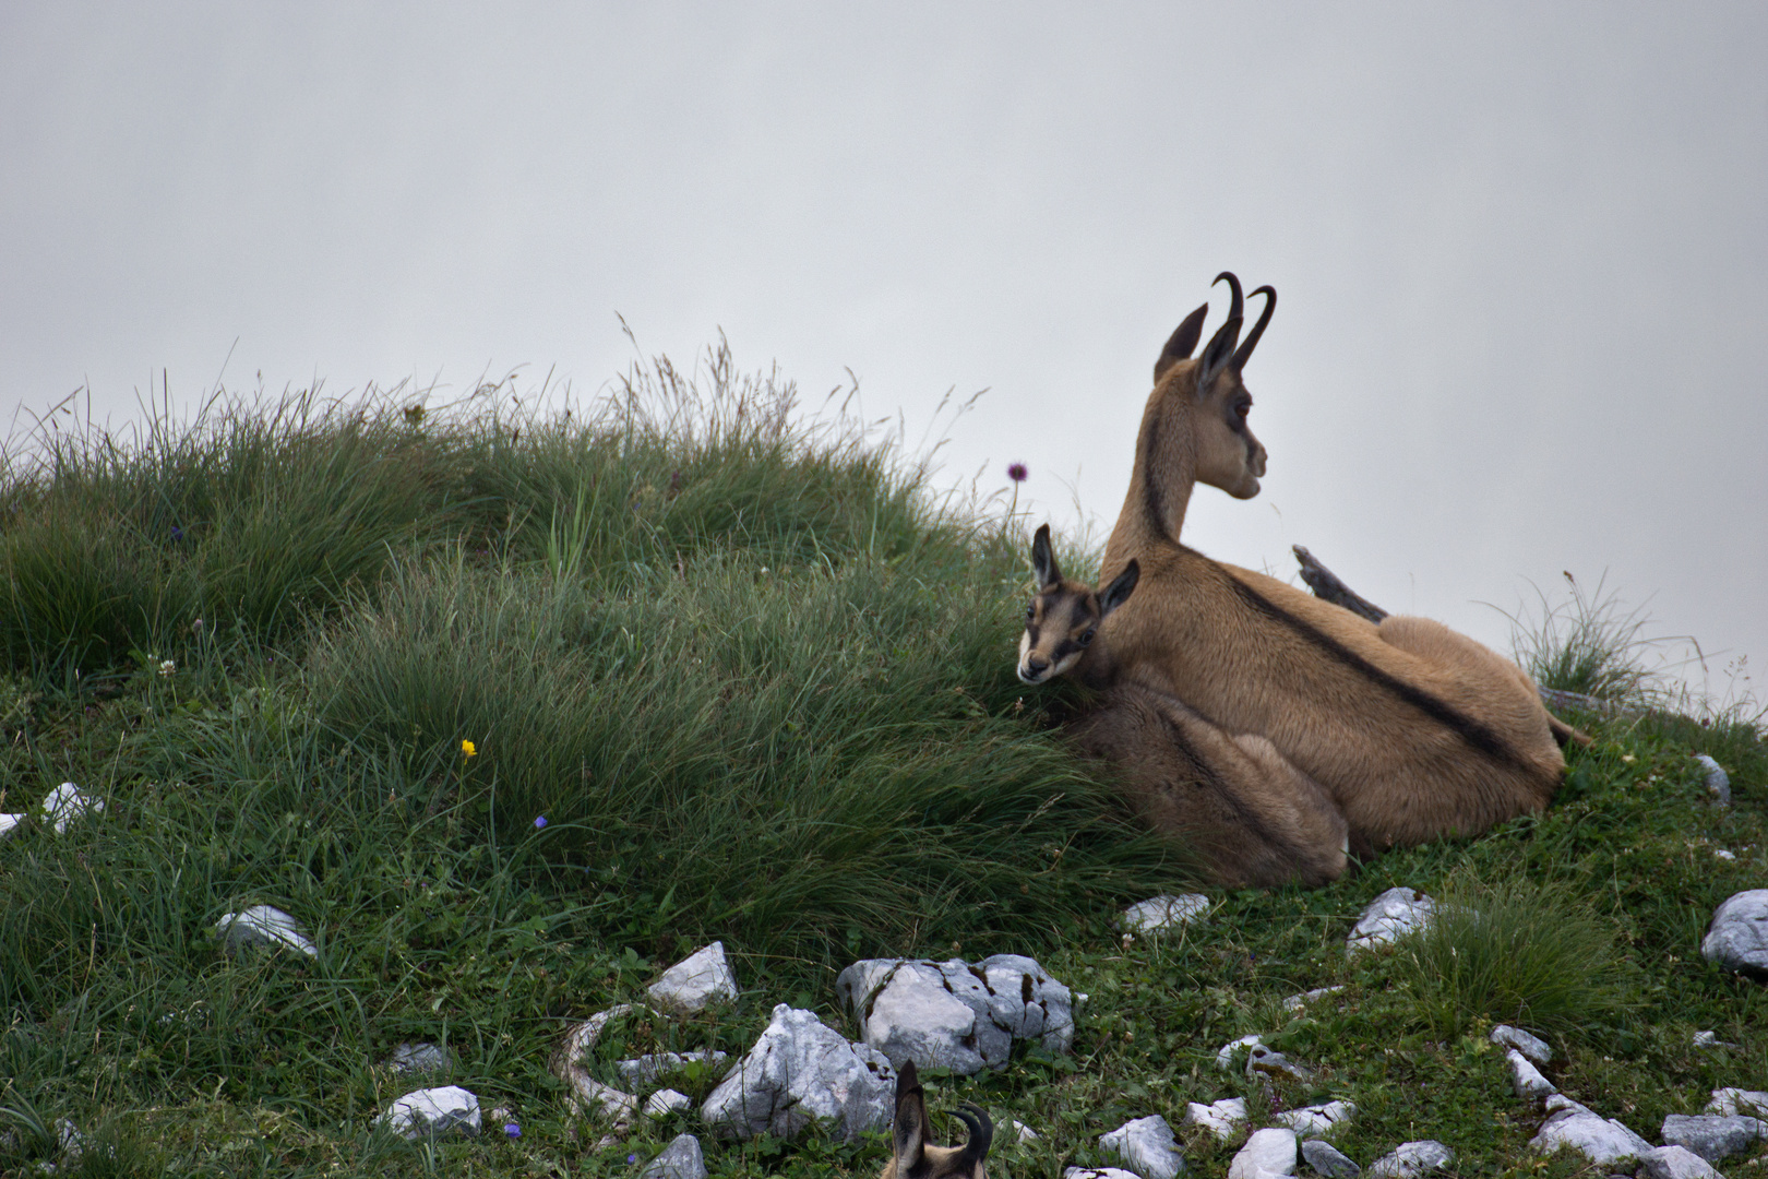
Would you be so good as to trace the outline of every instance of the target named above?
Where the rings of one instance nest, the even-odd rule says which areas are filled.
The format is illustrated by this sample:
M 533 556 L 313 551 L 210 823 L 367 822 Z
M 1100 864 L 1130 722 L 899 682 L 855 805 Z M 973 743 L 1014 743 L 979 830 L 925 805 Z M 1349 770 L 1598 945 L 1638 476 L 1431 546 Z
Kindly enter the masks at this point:
M 1073 689 L 1013 675 L 1024 520 L 935 500 L 911 456 L 804 426 L 723 350 L 587 417 L 502 392 L 242 399 L 127 438 L 53 415 L 4 454 L 0 811 L 64 780 L 106 810 L 0 841 L 0 1174 L 55 1158 L 58 1119 L 92 1175 L 633 1174 L 693 1121 L 598 1152 L 548 1055 L 714 937 L 744 1000 L 624 1027 L 610 1059 L 741 1053 L 781 1000 L 847 1027 L 833 977 L 861 956 L 1018 951 L 1089 992 L 1073 1057 L 930 1078 L 941 1128 L 967 1098 L 1043 1135 L 997 1135 L 1008 1175 L 1107 1161 L 1100 1133 L 1186 1101 L 1268 1112 L 1215 1068 L 1246 1032 L 1317 1068 L 1285 1107 L 1356 1101 L 1358 1161 L 1434 1137 L 1466 1175 L 1538 1174 L 1492 1022 L 1549 1034 L 1559 1087 L 1653 1140 L 1768 1078 L 1768 990 L 1699 956 L 1713 907 L 1768 880 L 1759 718 L 1572 718 L 1597 742 L 1547 815 L 1124 940 L 1121 909 L 1188 887 L 1188 861 L 1061 746 Z M 1653 704 L 1625 628 L 1584 617 L 1524 656 Z M 1393 884 L 1452 919 L 1347 962 Z M 212 924 L 253 903 L 318 956 L 225 956 Z M 421 1039 L 522 1137 L 373 1131 L 414 1087 L 387 1055 Z M 886 1158 L 704 1142 L 725 1175 Z M 1225 1172 L 1232 1147 L 1190 1142 L 1192 1174 Z

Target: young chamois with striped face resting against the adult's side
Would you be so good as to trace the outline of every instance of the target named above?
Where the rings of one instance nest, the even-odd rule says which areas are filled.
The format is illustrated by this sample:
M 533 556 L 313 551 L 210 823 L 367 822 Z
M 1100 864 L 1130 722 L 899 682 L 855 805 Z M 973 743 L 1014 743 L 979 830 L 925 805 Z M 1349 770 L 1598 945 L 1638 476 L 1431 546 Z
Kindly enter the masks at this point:
M 1155 831 L 1181 840 L 1215 880 L 1234 887 L 1319 886 L 1344 875 L 1344 815 L 1269 741 L 1223 732 L 1183 700 L 1117 682 L 1098 631 L 1135 592 L 1133 559 L 1103 590 L 1070 582 L 1043 525 L 1031 543 L 1031 567 L 1038 590 L 1018 640 L 1018 677 L 1043 684 L 1073 673 L 1105 689 L 1070 735 L 1116 767 Z

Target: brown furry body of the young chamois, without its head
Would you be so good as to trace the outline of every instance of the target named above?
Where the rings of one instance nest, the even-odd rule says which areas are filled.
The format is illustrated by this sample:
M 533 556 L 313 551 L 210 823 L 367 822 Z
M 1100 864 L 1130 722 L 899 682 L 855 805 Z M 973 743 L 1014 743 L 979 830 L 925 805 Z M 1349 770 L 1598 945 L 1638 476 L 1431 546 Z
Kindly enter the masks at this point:
M 1110 762 L 1147 822 L 1193 850 L 1218 882 L 1321 886 L 1344 875 L 1344 815 L 1264 737 L 1231 737 L 1176 696 L 1128 684 L 1073 737 Z

